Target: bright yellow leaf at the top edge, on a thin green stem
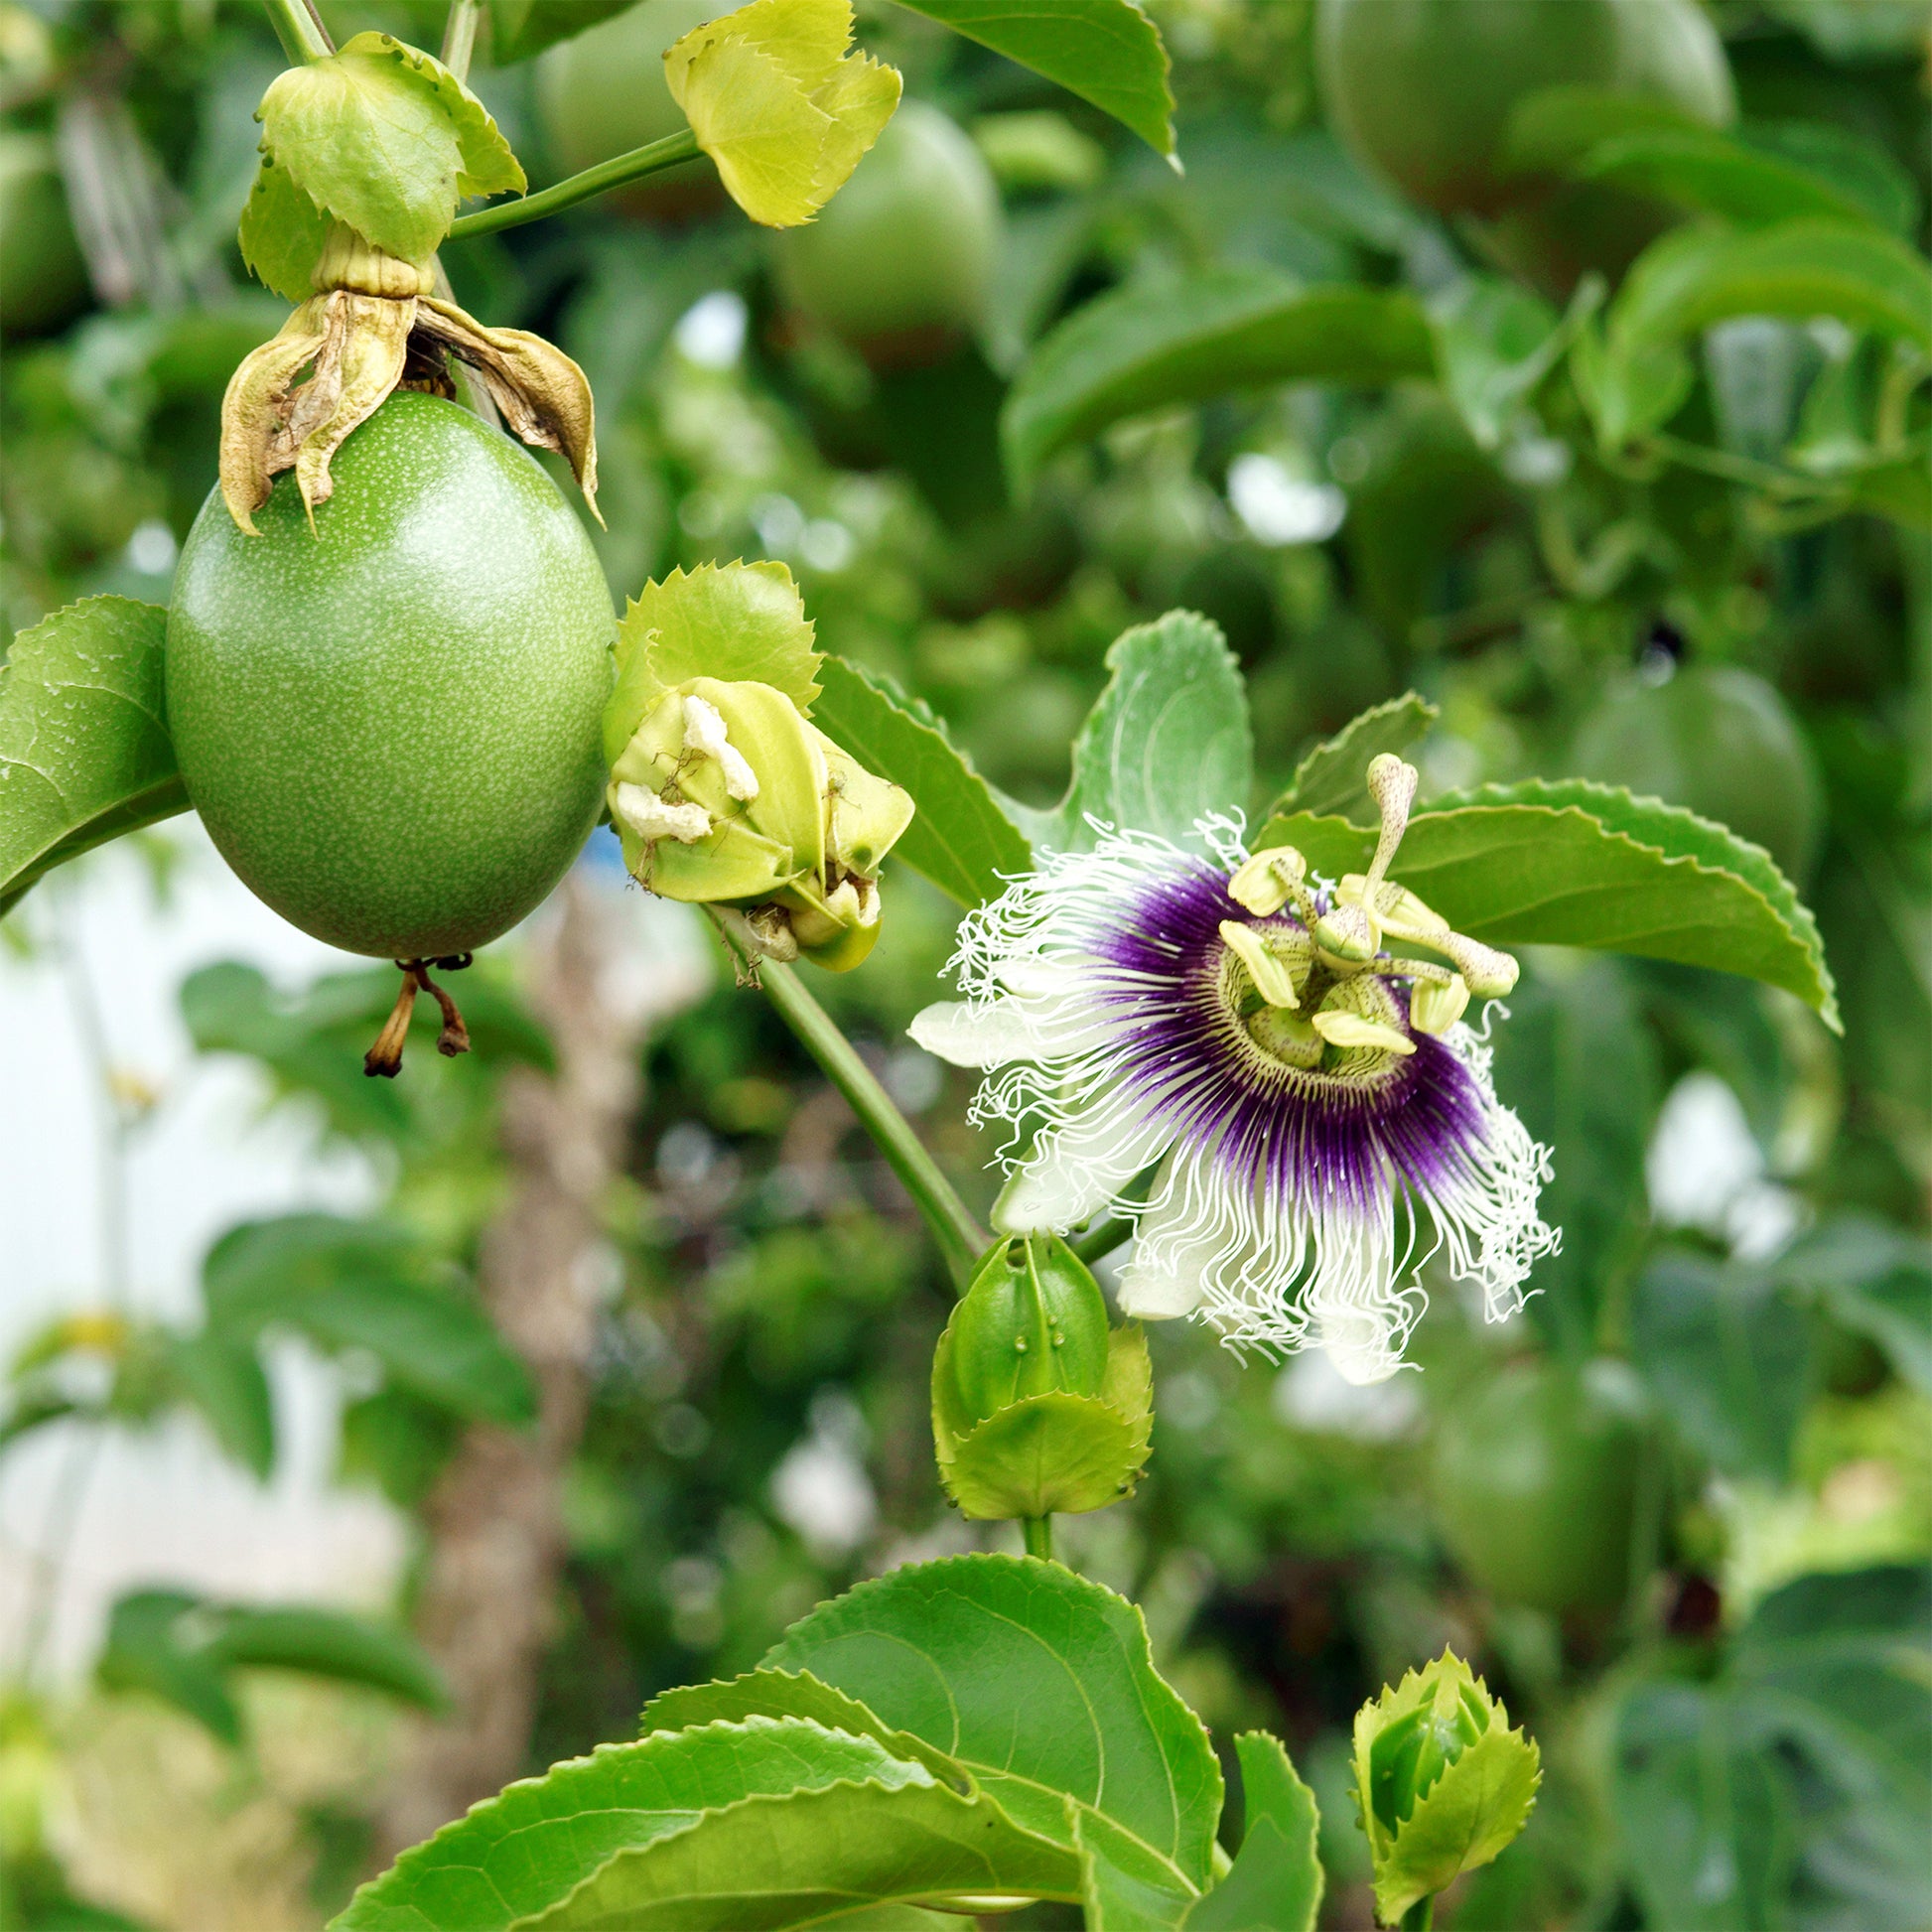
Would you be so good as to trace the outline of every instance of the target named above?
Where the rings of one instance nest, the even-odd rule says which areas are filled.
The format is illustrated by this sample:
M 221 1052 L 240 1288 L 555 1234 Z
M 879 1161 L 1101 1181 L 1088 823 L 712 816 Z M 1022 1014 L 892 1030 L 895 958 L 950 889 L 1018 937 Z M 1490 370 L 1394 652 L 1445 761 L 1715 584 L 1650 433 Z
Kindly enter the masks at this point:
M 672 99 L 752 220 L 810 222 L 893 118 L 898 70 L 850 46 L 848 0 L 753 0 L 665 54 Z

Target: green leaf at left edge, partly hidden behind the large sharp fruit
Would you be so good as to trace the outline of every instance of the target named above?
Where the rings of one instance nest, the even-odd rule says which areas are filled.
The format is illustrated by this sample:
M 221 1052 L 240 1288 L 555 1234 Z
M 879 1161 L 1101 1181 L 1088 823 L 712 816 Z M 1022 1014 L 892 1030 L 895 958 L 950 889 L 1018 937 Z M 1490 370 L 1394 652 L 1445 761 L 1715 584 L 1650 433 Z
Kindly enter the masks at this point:
M 162 711 L 168 612 L 87 597 L 0 665 L 0 914 L 46 871 L 187 810 Z

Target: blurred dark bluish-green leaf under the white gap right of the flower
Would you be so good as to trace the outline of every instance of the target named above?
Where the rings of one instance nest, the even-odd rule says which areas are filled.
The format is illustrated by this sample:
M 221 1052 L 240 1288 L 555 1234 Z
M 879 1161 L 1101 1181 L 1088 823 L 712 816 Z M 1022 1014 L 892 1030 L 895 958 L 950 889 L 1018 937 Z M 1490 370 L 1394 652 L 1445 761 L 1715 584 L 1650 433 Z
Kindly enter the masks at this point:
M 1727 1476 L 1783 1482 L 1810 1385 L 1810 1321 L 1758 1267 L 1665 1248 L 1631 1302 L 1658 1410 Z

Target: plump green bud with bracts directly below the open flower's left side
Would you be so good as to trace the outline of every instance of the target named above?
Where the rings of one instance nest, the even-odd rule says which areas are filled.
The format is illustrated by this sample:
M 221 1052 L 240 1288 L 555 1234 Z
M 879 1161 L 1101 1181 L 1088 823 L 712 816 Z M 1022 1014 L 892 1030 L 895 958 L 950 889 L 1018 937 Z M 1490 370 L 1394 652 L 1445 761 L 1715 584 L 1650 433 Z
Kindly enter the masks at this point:
M 968 1517 L 1119 1501 L 1140 1480 L 1153 1379 L 1138 1327 L 1107 1325 L 1099 1283 L 1057 1235 L 999 1242 L 933 1352 L 933 1441 Z

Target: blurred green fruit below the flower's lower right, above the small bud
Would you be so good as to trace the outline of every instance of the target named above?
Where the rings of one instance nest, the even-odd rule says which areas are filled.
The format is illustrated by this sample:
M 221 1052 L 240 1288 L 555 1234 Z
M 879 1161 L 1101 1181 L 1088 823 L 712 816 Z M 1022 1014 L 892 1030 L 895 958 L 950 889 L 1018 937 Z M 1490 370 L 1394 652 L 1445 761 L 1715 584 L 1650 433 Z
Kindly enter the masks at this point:
M 1505 1602 L 1615 1609 L 1631 1580 L 1640 1445 L 1640 1397 L 1621 1362 L 1515 1362 L 1437 1424 L 1443 1540 Z

